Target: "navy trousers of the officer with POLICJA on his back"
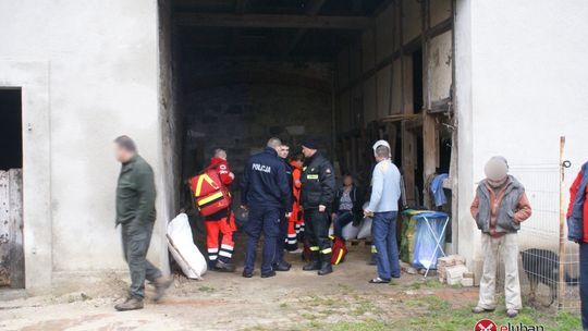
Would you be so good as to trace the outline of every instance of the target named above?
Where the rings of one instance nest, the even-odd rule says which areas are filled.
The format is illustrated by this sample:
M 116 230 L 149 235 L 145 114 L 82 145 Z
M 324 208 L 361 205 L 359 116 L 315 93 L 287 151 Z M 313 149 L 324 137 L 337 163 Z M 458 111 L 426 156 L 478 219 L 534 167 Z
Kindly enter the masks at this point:
M 261 206 L 250 206 L 249 219 L 244 230 L 248 235 L 247 252 L 245 253 L 244 272 L 253 272 L 257 255 L 257 243 L 264 234 L 261 273 L 271 272 L 271 263 L 275 255 L 275 240 L 279 234 L 280 209 Z

